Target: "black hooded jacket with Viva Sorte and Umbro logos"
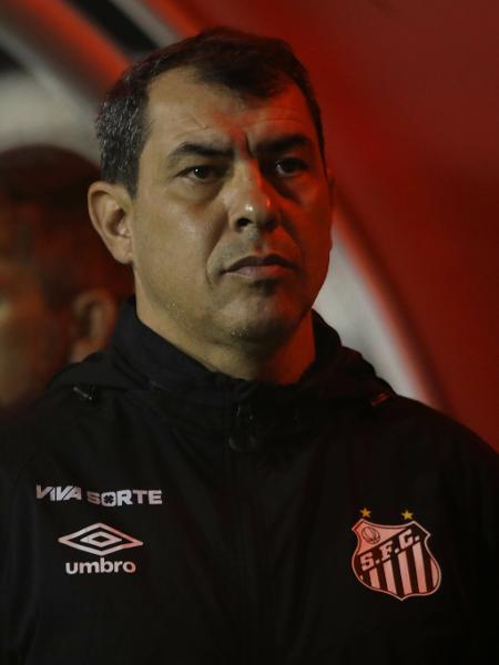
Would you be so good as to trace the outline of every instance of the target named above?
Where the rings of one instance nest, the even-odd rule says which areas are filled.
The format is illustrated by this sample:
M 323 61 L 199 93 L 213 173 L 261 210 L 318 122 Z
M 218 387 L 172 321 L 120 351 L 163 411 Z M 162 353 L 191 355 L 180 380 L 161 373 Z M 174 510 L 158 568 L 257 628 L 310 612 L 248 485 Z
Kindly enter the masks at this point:
M 2 665 L 496 662 L 497 456 L 315 334 L 247 382 L 129 305 L 3 426 Z

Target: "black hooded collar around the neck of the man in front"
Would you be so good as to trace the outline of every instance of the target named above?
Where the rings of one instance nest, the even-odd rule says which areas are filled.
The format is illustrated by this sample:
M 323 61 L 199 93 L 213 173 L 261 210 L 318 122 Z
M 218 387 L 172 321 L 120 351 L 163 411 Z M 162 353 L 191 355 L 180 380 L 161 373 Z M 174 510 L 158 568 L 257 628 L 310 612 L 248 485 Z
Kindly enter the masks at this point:
M 122 308 L 110 348 L 70 367 L 54 381 L 92 400 L 102 388 L 134 391 L 184 429 L 203 429 L 252 449 L 262 441 L 296 438 L 347 403 L 364 408 L 390 395 L 361 356 L 342 346 L 314 313 L 316 359 L 299 381 L 277 386 L 245 381 L 206 369 L 145 326 L 134 299 Z M 80 395 L 81 397 L 81 395 Z M 276 436 L 277 433 L 277 436 Z M 299 438 L 299 437 L 298 437 Z

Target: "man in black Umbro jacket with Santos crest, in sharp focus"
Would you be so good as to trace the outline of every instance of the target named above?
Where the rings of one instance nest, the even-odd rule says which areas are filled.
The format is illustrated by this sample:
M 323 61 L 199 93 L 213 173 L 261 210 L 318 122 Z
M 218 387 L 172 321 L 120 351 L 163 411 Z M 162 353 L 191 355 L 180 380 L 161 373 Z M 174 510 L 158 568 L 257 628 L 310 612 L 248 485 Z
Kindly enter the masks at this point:
M 3 432 L 2 662 L 488 662 L 497 459 L 312 313 L 303 66 L 201 33 L 125 72 L 98 134 L 91 216 L 136 301 Z

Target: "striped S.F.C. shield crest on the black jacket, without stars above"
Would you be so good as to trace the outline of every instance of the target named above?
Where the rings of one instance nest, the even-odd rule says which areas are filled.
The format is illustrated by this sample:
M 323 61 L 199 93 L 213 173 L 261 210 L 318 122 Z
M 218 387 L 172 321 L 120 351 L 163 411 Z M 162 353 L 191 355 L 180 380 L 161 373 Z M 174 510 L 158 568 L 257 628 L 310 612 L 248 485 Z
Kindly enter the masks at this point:
M 358 542 L 352 566 L 359 582 L 399 601 L 437 591 L 440 567 L 427 544 L 430 534 L 418 522 L 385 525 L 361 519 L 353 531 Z

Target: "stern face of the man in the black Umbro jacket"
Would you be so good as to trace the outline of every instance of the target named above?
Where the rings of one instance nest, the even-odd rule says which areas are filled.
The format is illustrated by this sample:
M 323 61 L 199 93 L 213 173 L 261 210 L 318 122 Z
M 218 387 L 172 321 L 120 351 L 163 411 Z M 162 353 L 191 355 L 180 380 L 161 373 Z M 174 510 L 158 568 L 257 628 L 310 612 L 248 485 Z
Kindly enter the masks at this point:
M 176 69 L 152 84 L 147 121 L 130 225 L 141 318 L 175 342 L 282 344 L 309 315 L 330 249 L 302 92 L 241 99 Z

